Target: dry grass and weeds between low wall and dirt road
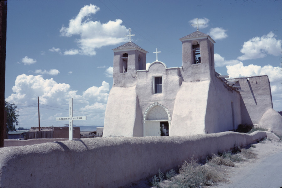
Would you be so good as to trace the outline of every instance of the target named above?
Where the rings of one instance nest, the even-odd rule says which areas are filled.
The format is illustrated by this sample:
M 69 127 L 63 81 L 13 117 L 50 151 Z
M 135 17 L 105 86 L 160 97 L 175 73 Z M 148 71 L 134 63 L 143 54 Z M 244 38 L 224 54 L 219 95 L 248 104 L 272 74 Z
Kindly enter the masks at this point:
M 237 153 L 239 151 L 239 153 Z M 151 181 L 154 187 L 158 188 L 197 188 L 203 186 L 216 185 L 217 182 L 227 181 L 225 179 L 226 167 L 234 167 L 234 162 L 243 161 L 245 159 L 255 159 L 251 149 L 238 149 L 236 154 L 231 151 L 222 154 L 212 154 L 211 159 L 206 160 L 205 165 L 201 165 L 197 161 L 185 161 L 179 167 L 179 174 L 174 170 L 166 173 L 167 180 L 164 182 L 164 174 L 159 170 Z M 243 159 L 243 158 L 245 159 Z

